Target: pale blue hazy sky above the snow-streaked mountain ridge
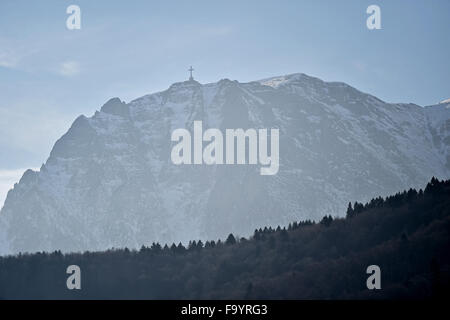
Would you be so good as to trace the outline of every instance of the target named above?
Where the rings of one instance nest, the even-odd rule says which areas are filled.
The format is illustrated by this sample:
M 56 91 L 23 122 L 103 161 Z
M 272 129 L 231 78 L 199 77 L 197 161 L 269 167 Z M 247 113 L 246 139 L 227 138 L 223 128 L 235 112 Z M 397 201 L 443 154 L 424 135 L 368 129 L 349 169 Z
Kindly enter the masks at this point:
M 66 28 L 71 4 L 81 30 Z M 382 30 L 366 27 L 371 4 Z M 190 65 L 202 83 L 303 72 L 389 102 L 449 98 L 449 14 L 448 0 L 1 0 L 0 206 L 79 114 L 164 90 Z

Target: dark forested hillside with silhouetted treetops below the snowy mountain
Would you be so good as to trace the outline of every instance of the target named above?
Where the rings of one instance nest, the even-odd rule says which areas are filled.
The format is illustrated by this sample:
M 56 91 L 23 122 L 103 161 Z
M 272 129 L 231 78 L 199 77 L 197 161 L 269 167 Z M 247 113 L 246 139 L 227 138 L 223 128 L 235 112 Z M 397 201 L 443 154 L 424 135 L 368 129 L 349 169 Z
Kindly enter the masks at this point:
M 139 251 L 37 253 L 0 258 L 0 297 L 142 299 L 349 299 L 448 297 L 450 180 L 432 179 L 363 205 L 251 239 Z M 81 268 L 68 290 L 66 268 Z M 381 269 L 368 290 L 366 268 Z

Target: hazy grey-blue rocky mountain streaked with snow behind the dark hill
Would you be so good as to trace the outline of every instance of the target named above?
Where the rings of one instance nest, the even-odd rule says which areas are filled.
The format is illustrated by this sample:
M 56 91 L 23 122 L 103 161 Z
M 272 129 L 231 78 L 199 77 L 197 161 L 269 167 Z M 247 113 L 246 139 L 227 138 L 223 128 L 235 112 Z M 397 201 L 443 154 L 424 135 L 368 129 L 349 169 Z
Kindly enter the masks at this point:
M 139 247 L 247 236 L 256 227 L 343 215 L 432 177 L 450 177 L 449 104 L 388 104 L 304 74 L 173 84 L 75 120 L 0 214 L 0 253 Z M 280 169 L 174 165 L 173 130 L 278 128 Z M 191 130 L 192 132 L 192 130 Z

